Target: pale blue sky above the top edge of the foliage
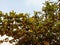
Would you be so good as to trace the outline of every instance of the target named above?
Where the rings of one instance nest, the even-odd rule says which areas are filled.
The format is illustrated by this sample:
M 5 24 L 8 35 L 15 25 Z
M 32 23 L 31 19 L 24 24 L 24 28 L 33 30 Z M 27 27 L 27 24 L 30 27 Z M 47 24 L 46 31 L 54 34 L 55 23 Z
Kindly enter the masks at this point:
M 0 0 L 0 10 L 33 13 L 34 10 L 41 11 L 44 2 L 45 0 Z

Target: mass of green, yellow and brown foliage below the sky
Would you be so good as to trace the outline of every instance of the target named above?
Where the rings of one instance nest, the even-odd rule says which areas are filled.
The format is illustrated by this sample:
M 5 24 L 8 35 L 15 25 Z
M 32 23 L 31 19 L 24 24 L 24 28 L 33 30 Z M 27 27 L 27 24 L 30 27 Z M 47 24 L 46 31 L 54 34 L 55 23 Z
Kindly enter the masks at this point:
M 12 36 L 16 45 L 60 45 L 60 11 L 58 5 L 49 1 L 42 8 L 43 14 L 29 14 L 0 11 L 0 35 Z

